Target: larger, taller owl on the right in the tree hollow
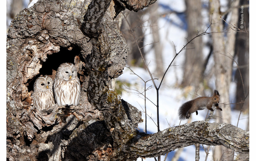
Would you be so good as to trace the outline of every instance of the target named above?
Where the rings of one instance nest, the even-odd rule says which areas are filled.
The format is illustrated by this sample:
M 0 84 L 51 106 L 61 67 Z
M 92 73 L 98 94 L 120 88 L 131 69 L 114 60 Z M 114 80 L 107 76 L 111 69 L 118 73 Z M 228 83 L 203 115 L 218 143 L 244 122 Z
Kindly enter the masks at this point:
M 80 99 L 80 81 L 72 63 L 62 63 L 53 81 L 55 100 L 59 105 L 77 106 Z

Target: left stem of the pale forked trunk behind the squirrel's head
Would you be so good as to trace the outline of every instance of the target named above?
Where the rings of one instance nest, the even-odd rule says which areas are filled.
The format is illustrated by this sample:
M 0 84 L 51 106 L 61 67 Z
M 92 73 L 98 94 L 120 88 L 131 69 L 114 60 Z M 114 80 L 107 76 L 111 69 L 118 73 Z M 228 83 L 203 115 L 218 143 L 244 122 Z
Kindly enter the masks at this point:
M 218 0 L 210 1 L 210 3 L 209 3 L 210 20 L 211 20 L 211 14 L 212 14 L 212 22 L 218 23 L 218 25 L 212 26 L 212 31 L 215 31 L 215 32 L 223 31 L 222 19 L 220 19 L 219 8 L 220 8 L 220 4 L 219 4 Z M 223 69 L 226 65 L 222 66 L 222 64 L 225 63 L 222 60 L 226 60 L 226 57 L 224 55 L 220 55 L 220 53 L 225 54 L 224 33 L 212 34 L 212 41 L 213 41 L 212 46 L 213 46 L 213 54 L 214 54 L 214 61 L 215 61 L 214 71 L 215 71 L 215 79 L 216 79 L 215 80 L 216 89 L 221 94 L 220 101 L 228 104 L 229 103 L 229 90 L 228 90 L 229 88 L 226 88 L 226 87 L 229 87 L 229 84 L 226 84 L 227 82 L 225 79 L 227 70 Z M 222 58 L 222 60 L 221 60 L 221 58 Z M 228 63 L 228 62 L 226 62 L 226 63 L 229 64 L 231 67 L 231 62 L 230 63 Z M 223 104 L 222 105 L 222 110 L 223 110 L 222 113 L 224 113 L 224 111 L 227 111 L 226 108 L 229 108 L 229 111 L 231 110 L 230 107 L 227 107 L 226 105 Z M 215 111 L 215 115 L 216 114 L 217 114 L 217 116 L 219 116 L 217 111 Z M 224 115 L 221 114 L 221 115 L 222 115 L 222 117 L 224 117 L 225 114 Z M 230 122 L 230 112 L 229 112 L 229 117 L 225 121 Z M 217 117 L 216 122 L 221 122 L 221 119 L 219 117 Z M 214 152 L 213 152 L 214 160 L 221 160 L 222 153 L 223 153 L 223 151 L 222 151 L 221 146 L 215 146 Z

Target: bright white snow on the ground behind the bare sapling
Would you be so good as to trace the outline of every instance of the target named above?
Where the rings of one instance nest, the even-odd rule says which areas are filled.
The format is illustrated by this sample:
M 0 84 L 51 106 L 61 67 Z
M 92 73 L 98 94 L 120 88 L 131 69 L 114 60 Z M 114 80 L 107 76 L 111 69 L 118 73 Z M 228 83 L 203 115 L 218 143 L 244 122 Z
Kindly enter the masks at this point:
M 165 0 L 159 0 L 158 4 L 160 5 L 158 11 L 164 12 L 164 10 L 167 9 L 173 9 L 177 12 L 184 12 L 186 9 L 185 3 L 183 1 L 165 1 Z M 168 8 L 169 7 L 169 8 Z M 203 10 L 203 12 L 205 12 Z M 205 14 L 204 14 L 205 15 Z M 147 20 L 149 18 L 148 15 L 145 15 L 144 19 Z M 185 17 L 184 17 L 185 18 Z M 204 17 L 204 19 L 206 19 Z M 168 22 L 169 21 L 169 22 Z M 171 23 L 170 23 L 171 21 Z M 159 28 L 159 34 L 160 34 L 160 42 L 163 46 L 163 58 L 164 58 L 164 69 L 167 69 L 169 66 L 169 63 L 172 61 L 173 57 L 175 56 L 175 50 L 174 45 L 176 46 L 176 51 L 179 51 L 187 42 L 185 39 L 187 37 L 186 33 L 186 24 L 184 23 L 183 17 L 177 16 L 175 14 L 169 15 L 169 17 L 163 17 L 158 20 L 158 28 Z M 181 24 L 181 25 L 177 25 Z M 144 26 L 150 26 L 149 24 L 144 24 Z M 205 25 L 206 29 L 206 25 Z M 144 27 L 145 32 L 145 39 L 144 39 L 144 45 L 153 43 L 153 38 L 151 35 L 150 27 Z M 208 36 L 203 36 L 203 40 L 207 41 Z M 155 72 L 155 55 L 154 51 L 151 49 L 150 45 L 145 46 L 144 50 L 147 51 L 146 55 L 146 62 L 149 63 L 149 69 L 151 70 L 151 73 Z M 204 54 L 208 53 L 208 48 L 204 48 Z M 183 77 L 183 61 L 185 59 L 185 52 L 181 52 L 178 57 L 176 57 L 174 63 L 171 66 L 169 71 L 167 72 L 164 82 L 162 83 L 160 90 L 159 90 L 159 122 L 160 122 L 160 130 L 164 130 L 168 127 L 174 127 L 180 124 L 180 120 L 178 118 L 178 108 L 181 104 L 183 104 L 186 101 L 189 101 L 193 98 L 194 93 L 188 93 L 186 90 L 180 88 L 177 86 L 182 80 Z M 210 59 L 210 65 L 213 65 L 213 59 Z M 150 80 L 150 75 L 148 74 L 148 71 L 139 68 L 139 67 L 130 67 L 134 73 L 139 75 L 142 79 L 145 81 Z M 124 87 L 124 90 L 122 94 L 120 95 L 121 98 L 123 98 L 125 101 L 129 102 L 133 106 L 137 107 L 142 112 L 142 119 L 145 120 L 145 113 L 144 113 L 144 97 L 141 94 L 136 94 L 137 91 L 140 91 L 141 93 L 144 91 L 144 81 L 142 81 L 138 76 L 133 74 L 133 72 L 125 68 L 123 70 L 123 74 L 118 77 L 116 80 L 121 82 L 128 82 L 131 84 L 130 87 Z M 153 76 L 155 76 L 153 74 Z M 155 76 L 156 77 L 156 76 Z M 155 80 L 157 87 L 160 83 L 160 80 Z M 215 82 L 212 81 L 212 88 L 215 86 Z M 157 115 L 156 115 L 156 90 L 154 88 L 154 85 L 152 81 L 148 81 L 146 84 L 146 87 L 152 87 L 148 91 L 146 91 L 146 96 L 150 100 L 146 101 L 146 110 L 147 114 L 147 133 L 155 133 L 157 132 Z M 129 89 L 128 89 L 129 88 Z M 130 90 L 133 89 L 133 90 Z M 137 91 L 134 91 L 137 90 Z M 232 82 L 230 85 L 230 91 L 231 93 L 235 93 L 236 91 L 236 83 Z M 213 94 L 213 91 L 209 91 L 209 95 Z M 184 95 L 187 95 L 185 98 Z M 235 100 L 235 95 L 230 96 L 230 100 Z M 154 103 L 151 103 L 151 101 Z M 237 119 L 239 116 L 240 111 L 232 111 L 232 125 L 237 124 Z M 192 114 L 192 122 L 198 121 L 198 120 L 204 120 L 205 116 L 207 115 L 207 110 L 201 110 L 198 112 L 198 115 L 195 115 L 195 113 Z M 244 119 L 243 119 L 244 118 Z M 238 124 L 239 128 L 246 129 L 247 127 L 247 121 L 248 121 L 248 115 L 241 115 L 240 121 Z M 210 120 L 210 122 L 215 122 L 214 119 Z M 183 120 L 181 124 L 187 123 L 187 120 Z M 140 123 L 138 128 L 141 131 L 145 131 L 145 123 Z M 202 160 L 205 159 L 205 152 L 202 146 L 200 145 L 200 158 Z M 208 146 L 205 146 L 207 148 Z M 212 147 L 210 147 L 210 154 L 208 155 L 207 160 L 213 160 L 212 158 Z M 175 150 L 176 151 L 176 150 Z M 168 157 L 166 160 L 171 160 L 172 156 L 175 154 L 175 151 L 172 151 L 168 154 Z M 161 160 L 164 159 L 165 156 L 161 156 Z M 183 148 L 183 152 L 180 155 L 180 161 L 182 160 L 194 160 L 195 159 L 195 146 L 188 146 Z M 200 160 L 201 160 L 200 159 Z M 141 158 L 138 159 L 140 161 Z M 147 158 L 147 161 L 153 161 L 154 158 Z

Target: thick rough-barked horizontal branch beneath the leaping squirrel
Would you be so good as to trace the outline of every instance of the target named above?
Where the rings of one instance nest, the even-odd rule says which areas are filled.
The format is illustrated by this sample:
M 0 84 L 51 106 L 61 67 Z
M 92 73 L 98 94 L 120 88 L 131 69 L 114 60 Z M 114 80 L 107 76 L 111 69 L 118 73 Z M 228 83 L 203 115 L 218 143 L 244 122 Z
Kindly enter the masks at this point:
M 155 134 L 141 133 L 127 146 L 127 151 L 142 157 L 156 157 L 196 143 L 223 145 L 236 152 L 249 153 L 249 132 L 226 123 L 191 122 Z

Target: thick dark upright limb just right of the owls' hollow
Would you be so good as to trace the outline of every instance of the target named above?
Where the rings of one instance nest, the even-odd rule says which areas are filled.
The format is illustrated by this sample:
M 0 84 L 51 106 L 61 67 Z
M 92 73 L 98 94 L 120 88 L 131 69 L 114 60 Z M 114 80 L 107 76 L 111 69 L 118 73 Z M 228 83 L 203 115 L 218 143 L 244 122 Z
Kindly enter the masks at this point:
M 87 62 L 90 77 L 87 94 L 88 101 L 102 111 L 114 141 L 115 153 L 119 154 L 122 147 L 135 136 L 137 130 L 129 122 L 118 95 L 114 91 L 108 91 L 108 67 L 111 66 L 110 41 L 102 21 L 109 3 L 110 0 L 92 1 L 84 16 L 84 33 L 91 38 L 93 46 Z

